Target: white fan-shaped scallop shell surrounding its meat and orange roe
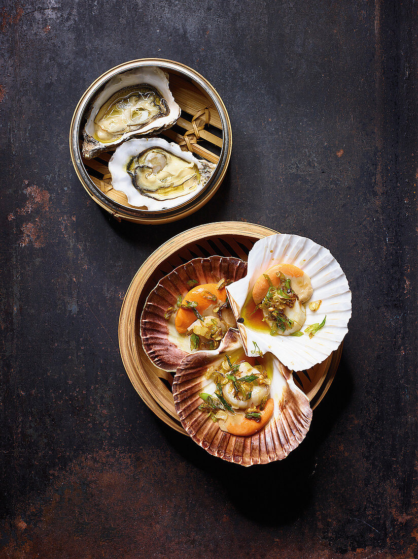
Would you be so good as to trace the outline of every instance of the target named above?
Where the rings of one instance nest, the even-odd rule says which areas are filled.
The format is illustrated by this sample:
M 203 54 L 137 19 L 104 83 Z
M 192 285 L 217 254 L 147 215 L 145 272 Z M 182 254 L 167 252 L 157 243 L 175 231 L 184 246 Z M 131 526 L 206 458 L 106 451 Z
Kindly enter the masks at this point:
M 343 341 L 351 317 L 351 291 L 344 272 L 328 249 L 299 235 L 279 233 L 254 244 L 248 254 L 247 276 L 227 287 L 236 319 L 241 316 L 257 278 L 279 263 L 294 264 L 306 272 L 314 289 L 310 301 L 322 300 L 316 312 L 311 311 L 306 303 L 306 322 L 302 331 L 311 324 L 320 324 L 326 315 L 325 325 L 313 338 L 308 334 L 301 337 L 271 336 L 238 323 L 239 333 L 247 355 L 248 350 L 257 344 L 262 353 L 273 353 L 291 371 L 302 371 L 325 361 Z

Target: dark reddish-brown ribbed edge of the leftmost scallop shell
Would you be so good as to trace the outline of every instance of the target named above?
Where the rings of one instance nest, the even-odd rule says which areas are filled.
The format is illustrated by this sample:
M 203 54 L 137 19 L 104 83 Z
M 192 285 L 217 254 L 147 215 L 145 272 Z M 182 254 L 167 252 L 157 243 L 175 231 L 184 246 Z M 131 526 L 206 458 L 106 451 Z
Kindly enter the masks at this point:
M 239 258 L 212 256 L 194 258 L 175 268 L 162 278 L 148 296 L 141 315 L 142 345 L 148 357 L 164 371 L 175 371 L 182 359 L 190 353 L 190 339 L 177 334 L 174 315 L 170 320 L 164 314 L 183 298 L 191 287 L 189 280 L 203 283 L 225 280 L 237 281 L 247 271 L 247 263 Z M 183 345 L 183 347 L 181 347 Z

